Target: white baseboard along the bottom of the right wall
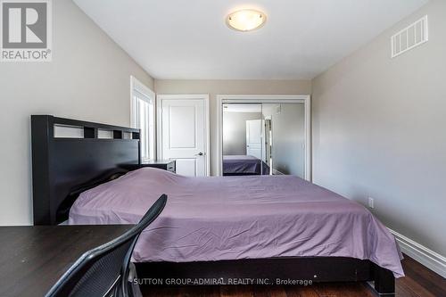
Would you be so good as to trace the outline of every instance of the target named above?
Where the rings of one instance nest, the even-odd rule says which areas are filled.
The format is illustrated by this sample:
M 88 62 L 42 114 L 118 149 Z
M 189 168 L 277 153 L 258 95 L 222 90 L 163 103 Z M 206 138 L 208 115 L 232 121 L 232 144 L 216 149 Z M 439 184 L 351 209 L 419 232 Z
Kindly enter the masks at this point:
M 434 252 L 420 243 L 416 243 L 410 238 L 399 234 L 389 228 L 396 241 L 400 244 L 401 252 L 407 254 L 410 258 L 417 260 L 426 268 L 433 270 L 440 276 L 446 278 L 446 258 L 441 254 Z

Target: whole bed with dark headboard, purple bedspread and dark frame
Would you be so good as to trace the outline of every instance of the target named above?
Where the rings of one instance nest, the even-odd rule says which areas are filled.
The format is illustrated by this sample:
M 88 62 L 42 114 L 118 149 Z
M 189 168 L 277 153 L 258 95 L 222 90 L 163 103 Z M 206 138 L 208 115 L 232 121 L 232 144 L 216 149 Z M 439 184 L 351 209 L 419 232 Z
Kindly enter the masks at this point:
M 57 138 L 56 125 L 84 137 Z M 403 276 L 393 236 L 368 210 L 298 177 L 126 171 L 140 162 L 139 130 L 49 115 L 31 117 L 31 144 L 35 225 L 136 223 L 169 195 L 136 244 L 139 277 L 373 281 L 394 293 Z

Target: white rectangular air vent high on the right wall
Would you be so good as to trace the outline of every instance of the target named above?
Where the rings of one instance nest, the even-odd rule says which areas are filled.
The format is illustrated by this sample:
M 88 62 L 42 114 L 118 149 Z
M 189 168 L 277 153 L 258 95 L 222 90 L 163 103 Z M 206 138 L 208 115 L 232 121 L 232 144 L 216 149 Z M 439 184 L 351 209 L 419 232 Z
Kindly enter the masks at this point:
M 392 58 L 424 44 L 428 39 L 427 15 L 392 36 Z

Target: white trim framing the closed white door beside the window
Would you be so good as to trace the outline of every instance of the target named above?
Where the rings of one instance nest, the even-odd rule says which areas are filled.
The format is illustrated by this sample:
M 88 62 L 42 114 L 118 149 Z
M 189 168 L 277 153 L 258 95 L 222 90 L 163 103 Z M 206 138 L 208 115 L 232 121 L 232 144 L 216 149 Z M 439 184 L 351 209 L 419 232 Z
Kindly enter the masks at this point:
M 206 160 L 206 176 L 211 174 L 211 128 L 210 128 L 210 114 L 209 114 L 209 94 L 157 94 L 156 95 L 156 137 L 157 137 L 157 158 L 162 158 L 162 100 L 187 100 L 194 97 L 194 100 L 201 99 L 204 101 L 204 141 L 206 144 L 205 160 Z

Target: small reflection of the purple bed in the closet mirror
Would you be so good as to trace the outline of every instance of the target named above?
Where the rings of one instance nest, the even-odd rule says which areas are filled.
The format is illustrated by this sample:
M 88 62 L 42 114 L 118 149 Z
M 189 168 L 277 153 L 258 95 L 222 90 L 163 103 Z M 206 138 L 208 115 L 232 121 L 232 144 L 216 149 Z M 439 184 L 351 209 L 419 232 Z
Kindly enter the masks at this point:
M 224 155 L 224 176 L 268 175 L 269 166 L 251 155 Z

